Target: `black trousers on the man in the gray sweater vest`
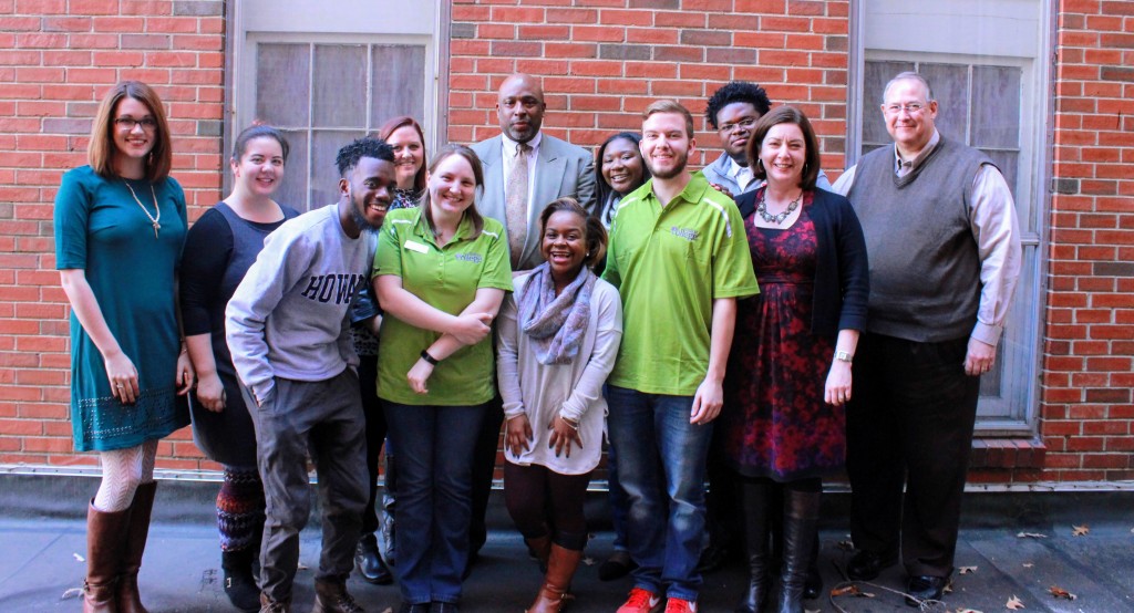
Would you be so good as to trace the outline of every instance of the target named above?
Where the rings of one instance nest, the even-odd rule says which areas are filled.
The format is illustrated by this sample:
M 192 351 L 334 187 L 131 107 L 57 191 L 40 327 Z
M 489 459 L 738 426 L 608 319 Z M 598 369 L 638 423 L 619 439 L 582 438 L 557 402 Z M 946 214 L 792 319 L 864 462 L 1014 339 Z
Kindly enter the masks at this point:
M 883 556 L 900 548 L 911 576 L 953 571 L 980 393 L 980 377 L 964 372 L 967 347 L 967 338 L 914 342 L 866 333 L 855 355 L 847 407 L 852 537 L 855 547 Z

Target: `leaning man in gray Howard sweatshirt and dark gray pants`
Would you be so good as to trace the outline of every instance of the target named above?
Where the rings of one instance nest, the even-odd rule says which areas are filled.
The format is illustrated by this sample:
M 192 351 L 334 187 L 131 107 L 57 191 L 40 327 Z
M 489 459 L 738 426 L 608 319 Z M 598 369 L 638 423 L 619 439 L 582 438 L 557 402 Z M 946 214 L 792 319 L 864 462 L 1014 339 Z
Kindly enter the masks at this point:
M 393 151 L 376 138 L 342 147 L 336 162 L 339 202 L 269 235 L 225 313 L 268 503 L 260 601 L 269 612 L 290 611 L 299 530 L 311 511 L 308 451 L 323 512 L 313 611 L 363 611 L 346 591 L 369 494 L 358 356 L 347 312 L 370 281 L 373 232 L 397 184 Z

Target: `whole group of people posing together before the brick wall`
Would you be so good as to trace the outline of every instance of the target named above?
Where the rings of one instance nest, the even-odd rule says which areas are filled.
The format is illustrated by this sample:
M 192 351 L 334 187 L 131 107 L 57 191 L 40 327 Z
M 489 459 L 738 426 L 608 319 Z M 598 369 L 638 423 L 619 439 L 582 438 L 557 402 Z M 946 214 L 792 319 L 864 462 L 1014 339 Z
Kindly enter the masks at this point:
M 929 83 L 887 84 L 894 146 L 833 188 L 804 113 L 751 83 L 709 100 L 723 153 L 703 171 L 676 102 L 593 156 L 544 134 L 545 110 L 540 80 L 511 75 L 501 134 L 432 157 L 393 118 L 339 150 L 338 202 L 304 214 L 273 198 L 287 139 L 252 126 L 231 194 L 188 228 L 161 101 L 111 90 L 54 218 L 75 446 L 103 467 L 84 611 L 145 611 L 156 443 L 191 416 L 225 467 L 225 589 L 245 611 L 291 610 L 308 458 L 314 611 L 363 611 L 355 568 L 396 574 L 400 612 L 459 611 L 501 428 L 505 502 L 544 572 L 532 613 L 568 597 L 604 442 L 599 572 L 633 580 L 618 613 L 697 611 L 730 543 L 750 570 L 738 613 L 773 593 L 802 612 L 822 478 L 844 468 L 850 578 L 900 559 L 908 603 L 941 597 L 1021 254 L 1004 177 L 936 129 Z

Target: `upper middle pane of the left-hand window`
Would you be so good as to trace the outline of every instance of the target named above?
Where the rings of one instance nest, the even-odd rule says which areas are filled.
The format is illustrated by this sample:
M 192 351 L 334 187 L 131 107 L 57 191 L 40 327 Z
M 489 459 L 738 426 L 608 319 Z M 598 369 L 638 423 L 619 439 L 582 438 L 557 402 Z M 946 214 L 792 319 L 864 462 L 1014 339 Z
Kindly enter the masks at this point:
M 314 127 L 366 128 L 365 74 L 365 45 L 315 45 Z

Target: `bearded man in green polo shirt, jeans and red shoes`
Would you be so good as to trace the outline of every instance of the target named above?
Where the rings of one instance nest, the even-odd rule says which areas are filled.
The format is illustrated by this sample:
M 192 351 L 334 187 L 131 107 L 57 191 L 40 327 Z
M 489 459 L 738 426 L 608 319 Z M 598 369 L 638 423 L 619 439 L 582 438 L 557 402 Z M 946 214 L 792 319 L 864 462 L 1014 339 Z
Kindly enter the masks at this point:
M 618 613 L 653 613 L 666 598 L 667 613 L 695 612 L 705 458 L 736 299 L 759 290 L 736 205 L 686 168 L 693 117 L 662 100 L 643 118 L 642 156 L 653 179 L 619 205 L 603 274 L 623 298 L 607 400 L 638 564 Z

